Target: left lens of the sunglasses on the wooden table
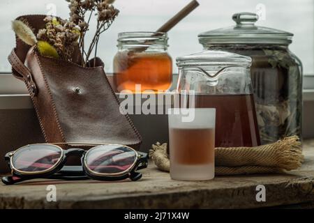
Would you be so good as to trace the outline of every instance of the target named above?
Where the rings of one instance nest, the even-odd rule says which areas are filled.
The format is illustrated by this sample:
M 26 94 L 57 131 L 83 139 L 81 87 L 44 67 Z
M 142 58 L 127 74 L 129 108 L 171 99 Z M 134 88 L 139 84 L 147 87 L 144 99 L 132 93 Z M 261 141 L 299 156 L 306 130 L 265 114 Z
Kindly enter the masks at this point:
M 15 169 L 24 172 L 45 171 L 54 167 L 61 158 L 61 148 L 46 144 L 24 146 L 12 157 Z

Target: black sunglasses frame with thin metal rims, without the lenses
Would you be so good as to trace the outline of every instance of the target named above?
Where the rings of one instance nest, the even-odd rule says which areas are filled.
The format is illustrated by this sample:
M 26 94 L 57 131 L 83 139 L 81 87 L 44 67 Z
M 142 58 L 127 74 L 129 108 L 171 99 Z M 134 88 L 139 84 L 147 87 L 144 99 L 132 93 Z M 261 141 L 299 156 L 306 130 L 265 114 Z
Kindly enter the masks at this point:
M 68 148 L 67 150 L 65 150 L 61 148 L 60 146 L 58 146 L 59 144 L 92 146 L 92 147 L 89 148 L 88 151 L 84 150 L 83 148 Z M 3 177 L 2 178 L 3 183 L 7 185 L 11 185 L 14 183 L 22 182 L 24 180 L 31 180 L 31 179 L 36 179 L 36 178 L 50 178 L 50 179 L 52 178 L 52 179 L 62 179 L 62 180 L 94 179 L 94 180 L 103 180 L 103 181 L 124 180 L 126 178 L 130 178 L 130 180 L 139 180 L 142 177 L 142 174 L 136 171 L 140 169 L 144 169 L 148 165 L 147 153 L 135 151 L 135 149 L 131 148 L 130 146 L 124 146 L 120 144 L 86 144 L 86 143 L 51 143 L 51 144 L 48 144 L 46 143 L 46 144 L 29 144 L 27 146 L 31 146 L 31 145 L 50 145 L 50 146 L 55 146 L 56 148 L 59 148 L 61 150 L 61 155 L 59 157 L 59 160 L 52 167 L 50 167 L 49 169 L 45 169 L 43 171 L 33 171 L 33 172 L 21 171 L 14 167 L 13 157 L 17 151 L 26 147 L 26 146 L 22 146 L 15 151 L 6 153 L 5 160 L 8 162 L 8 165 L 11 169 L 12 176 Z M 130 149 L 131 151 L 134 151 L 136 154 L 135 161 L 128 169 L 126 169 L 125 171 L 121 171 L 119 173 L 101 174 L 101 173 L 92 171 L 91 169 L 89 169 L 89 167 L 87 167 L 87 161 L 86 161 L 87 154 L 90 151 L 92 151 L 94 148 L 97 148 L 98 146 L 106 146 L 106 145 L 126 147 Z M 70 168 L 71 166 L 65 165 L 66 161 L 68 160 L 68 157 L 72 155 L 80 156 L 81 163 L 82 163 L 81 164 L 82 170 L 75 168 L 75 167 L 80 167 L 80 166 L 74 166 L 71 169 Z M 69 167 L 69 168 L 68 170 L 62 170 L 63 167 Z

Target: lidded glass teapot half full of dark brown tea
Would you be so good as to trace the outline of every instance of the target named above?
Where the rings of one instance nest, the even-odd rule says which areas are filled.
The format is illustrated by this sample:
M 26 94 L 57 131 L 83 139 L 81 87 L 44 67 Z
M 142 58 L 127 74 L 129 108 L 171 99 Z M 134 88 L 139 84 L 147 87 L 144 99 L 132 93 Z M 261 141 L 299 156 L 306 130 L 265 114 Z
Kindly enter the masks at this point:
M 250 57 L 207 50 L 177 58 L 177 66 L 178 106 L 216 108 L 216 147 L 260 145 Z

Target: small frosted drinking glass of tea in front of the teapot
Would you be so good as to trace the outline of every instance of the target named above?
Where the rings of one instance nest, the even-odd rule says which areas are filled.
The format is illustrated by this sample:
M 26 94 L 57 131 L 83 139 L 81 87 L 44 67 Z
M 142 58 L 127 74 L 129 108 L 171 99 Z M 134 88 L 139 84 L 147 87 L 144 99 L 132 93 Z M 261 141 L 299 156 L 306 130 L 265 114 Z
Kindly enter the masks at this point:
M 215 175 L 216 109 L 168 109 L 170 176 L 211 180 Z

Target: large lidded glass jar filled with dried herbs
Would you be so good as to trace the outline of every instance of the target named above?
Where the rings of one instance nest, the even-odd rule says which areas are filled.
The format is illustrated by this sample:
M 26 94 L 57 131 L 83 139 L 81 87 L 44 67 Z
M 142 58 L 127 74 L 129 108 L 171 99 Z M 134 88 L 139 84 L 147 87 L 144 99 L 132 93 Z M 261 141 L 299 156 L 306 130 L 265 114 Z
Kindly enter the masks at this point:
M 292 33 L 255 26 L 254 13 L 232 16 L 235 26 L 200 33 L 204 49 L 251 56 L 257 122 L 262 144 L 301 137 L 302 66 L 288 45 Z

